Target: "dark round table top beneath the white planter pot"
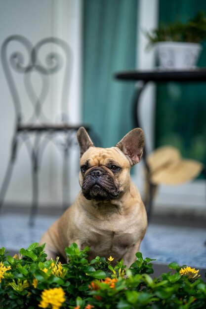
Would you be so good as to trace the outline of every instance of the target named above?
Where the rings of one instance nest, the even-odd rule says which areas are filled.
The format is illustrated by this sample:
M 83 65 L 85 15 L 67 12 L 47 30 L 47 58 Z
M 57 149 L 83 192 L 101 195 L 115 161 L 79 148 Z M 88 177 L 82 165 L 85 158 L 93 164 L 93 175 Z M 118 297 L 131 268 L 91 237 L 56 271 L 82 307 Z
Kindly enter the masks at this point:
M 180 82 L 200 82 L 206 81 L 206 68 L 196 68 L 190 70 L 163 70 L 154 69 L 151 71 L 134 70 L 124 71 L 115 74 L 115 78 L 122 80 L 143 80 L 154 82 L 168 82 L 168 81 L 180 81 Z

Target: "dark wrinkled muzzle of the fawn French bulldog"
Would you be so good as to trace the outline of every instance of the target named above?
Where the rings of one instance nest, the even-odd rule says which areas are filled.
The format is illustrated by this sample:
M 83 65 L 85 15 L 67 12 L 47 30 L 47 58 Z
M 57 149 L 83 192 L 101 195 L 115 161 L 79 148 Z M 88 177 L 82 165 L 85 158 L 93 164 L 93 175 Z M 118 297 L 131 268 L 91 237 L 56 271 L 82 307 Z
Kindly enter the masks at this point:
M 86 199 L 114 199 L 119 196 L 113 177 L 102 167 L 89 170 L 82 183 L 82 194 Z

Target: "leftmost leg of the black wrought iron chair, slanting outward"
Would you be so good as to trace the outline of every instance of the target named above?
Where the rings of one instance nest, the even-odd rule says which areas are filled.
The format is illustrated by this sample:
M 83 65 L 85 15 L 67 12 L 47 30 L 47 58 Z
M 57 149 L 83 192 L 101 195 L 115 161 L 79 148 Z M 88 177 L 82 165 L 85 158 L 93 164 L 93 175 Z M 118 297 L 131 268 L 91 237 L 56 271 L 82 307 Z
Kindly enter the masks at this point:
M 16 153 L 17 153 L 17 136 L 15 135 L 14 138 L 13 138 L 13 142 L 12 142 L 11 158 L 8 162 L 6 173 L 5 173 L 3 183 L 2 183 L 2 186 L 1 186 L 1 189 L 0 189 L 0 210 L 2 208 L 4 198 L 5 198 L 6 192 L 8 190 L 9 182 L 11 180 L 13 166 L 14 166 L 15 159 L 16 159 Z

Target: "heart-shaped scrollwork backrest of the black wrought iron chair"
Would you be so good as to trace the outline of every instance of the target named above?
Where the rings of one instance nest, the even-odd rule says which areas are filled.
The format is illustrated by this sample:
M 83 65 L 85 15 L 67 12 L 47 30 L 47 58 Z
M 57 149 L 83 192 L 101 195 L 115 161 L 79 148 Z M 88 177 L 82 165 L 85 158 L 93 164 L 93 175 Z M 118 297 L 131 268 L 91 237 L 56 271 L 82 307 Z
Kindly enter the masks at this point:
M 18 47 L 20 45 L 22 46 L 18 51 L 12 51 L 9 56 L 9 45 L 11 42 L 15 42 Z M 16 46 L 15 48 L 17 48 Z M 50 48 L 49 52 L 48 48 Z M 42 58 L 40 57 L 41 53 L 44 55 L 44 62 L 40 59 Z M 27 61 L 26 57 L 28 58 Z M 46 99 L 48 100 L 48 93 L 51 91 L 50 77 L 51 75 L 59 74 L 59 72 L 61 73 L 61 78 L 58 78 L 58 84 L 61 83 L 59 90 L 61 96 L 59 99 L 59 120 L 64 123 L 69 122 L 68 98 L 73 56 L 69 45 L 64 40 L 51 37 L 41 39 L 33 46 L 30 40 L 23 36 L 10 36 L 5 39 L 2 44 L 1 62 L 14 103 L 17 125 L 22 122 L 31 125 L 37 123 L 42 124 L 49 121 L 51 122 L 51 119 L 44 113 L 43 105 Z M 39 81 L 39 83 L 37 82 L 34 84 L 32 78 L 34 73 L 38 74 L 40 77 L 41 85 Z M 27 97 L 32 104 L 32 114 L 27 118 L 23 114 L 20 91 L 17 87 L 16 81 L 14 81 L 14 74 L 21 74 L 23 76 L 22 83 L 24 84 Z M 55 88 L 55 85 L 53 88 Z

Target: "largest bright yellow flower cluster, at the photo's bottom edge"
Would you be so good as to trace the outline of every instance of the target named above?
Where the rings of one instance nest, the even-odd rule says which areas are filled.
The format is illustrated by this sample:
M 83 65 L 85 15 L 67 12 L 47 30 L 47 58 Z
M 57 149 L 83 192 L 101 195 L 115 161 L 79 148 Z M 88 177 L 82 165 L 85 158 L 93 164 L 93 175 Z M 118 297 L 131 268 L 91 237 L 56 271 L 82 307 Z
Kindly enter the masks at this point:
M 64 291 L 62 288 L 53 288 L 43 290 L 41 293 L 41 302 L 38 305 L 41 308 L 47 308 L 49 305 L 51 309 L 59 309 L 65 302 Z

